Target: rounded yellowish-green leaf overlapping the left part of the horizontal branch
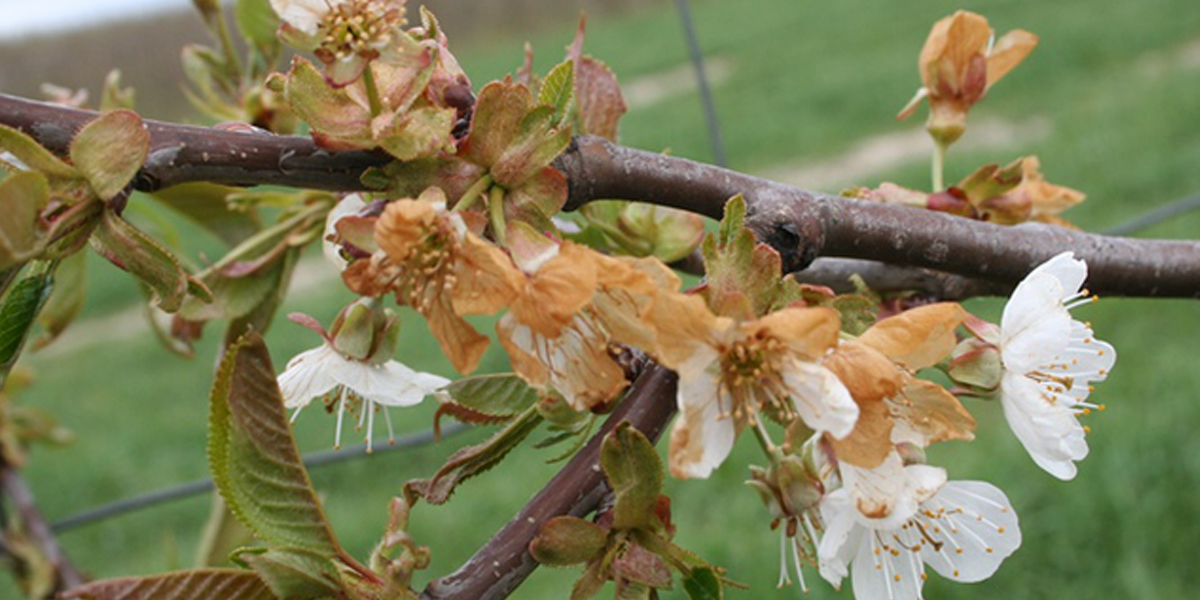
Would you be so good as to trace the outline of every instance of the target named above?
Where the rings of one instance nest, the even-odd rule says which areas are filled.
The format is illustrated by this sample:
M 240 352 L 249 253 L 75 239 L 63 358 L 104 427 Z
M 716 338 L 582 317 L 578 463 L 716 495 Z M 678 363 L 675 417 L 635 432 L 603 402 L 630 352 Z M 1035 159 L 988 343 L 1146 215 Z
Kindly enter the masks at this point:
M 104 113 L 71 140 L 71 162 L 101 199 L 125 190 L 150 154 L 150 131 L 132 110 Z

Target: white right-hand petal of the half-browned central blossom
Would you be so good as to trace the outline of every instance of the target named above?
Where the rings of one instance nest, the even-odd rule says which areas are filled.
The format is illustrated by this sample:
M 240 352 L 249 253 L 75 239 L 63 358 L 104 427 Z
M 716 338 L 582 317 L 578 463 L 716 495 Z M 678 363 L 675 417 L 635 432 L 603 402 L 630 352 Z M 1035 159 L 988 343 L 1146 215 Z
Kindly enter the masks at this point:
M 858 403 L 828 368 L 799 358 L 784 360 L 780 374 L 800 419 L 816 431 L 841 439 L 858 421 Z

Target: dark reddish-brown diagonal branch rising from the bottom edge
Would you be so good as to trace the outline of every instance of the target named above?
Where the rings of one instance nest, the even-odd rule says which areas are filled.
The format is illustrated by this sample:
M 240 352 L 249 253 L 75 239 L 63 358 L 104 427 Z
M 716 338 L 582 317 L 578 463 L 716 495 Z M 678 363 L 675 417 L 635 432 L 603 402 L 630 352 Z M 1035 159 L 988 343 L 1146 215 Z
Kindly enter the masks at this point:
M 600 472 L 600 443 L 620 421 L 629 421 L 650 440 L 659 438 L 676 410 L 676 376 L 650 365 L 634 382 L 625 401 L 583 450 L 538 492 L 457 571 L 425 589 L 426 600 L 499 600 L 508 598 L 538 568 L 529 542 L 541 524 L 560 515 L 583 516 L 607 493 Z

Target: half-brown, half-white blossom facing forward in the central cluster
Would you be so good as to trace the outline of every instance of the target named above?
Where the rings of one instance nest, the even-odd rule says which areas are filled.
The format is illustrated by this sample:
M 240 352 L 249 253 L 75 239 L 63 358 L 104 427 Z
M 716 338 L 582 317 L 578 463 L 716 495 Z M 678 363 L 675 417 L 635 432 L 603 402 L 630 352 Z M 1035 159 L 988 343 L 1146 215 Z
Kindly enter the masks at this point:
M 842 438 L 858 419 L 846 386 L 821 365 L 838 342 L 830 308 L 784 308 L 751 320 L 716 317 L 698 296 L 655 302 L 658 358 L 679 374 L 679 420 L 671 432 L 671 472 L 707 478 L 746 426 L 762 415 L 800 419 Z

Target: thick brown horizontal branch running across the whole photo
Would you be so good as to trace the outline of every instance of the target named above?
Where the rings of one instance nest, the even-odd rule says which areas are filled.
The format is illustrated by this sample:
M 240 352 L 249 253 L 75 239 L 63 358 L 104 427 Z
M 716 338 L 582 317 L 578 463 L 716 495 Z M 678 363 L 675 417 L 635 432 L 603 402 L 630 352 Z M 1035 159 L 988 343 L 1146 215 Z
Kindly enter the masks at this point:
M 95 113 L 0 95 L 0 122 L 65 154 Z M 146 121 L 151 152 L 136 186 L 187 181 L 362 190 L 361 173 L 388 162 L 378 152 L 329 152 L 311 139 Z M 797 190 L 684 158 L 577 137 L 554 161 L 569 182 L 566 208 L 604 198 L 650 202 L 721 215 L 746 197 L 748 226 L 790 271 L 817 257 L 877 260 L 1014 286 L 1038 264 L 1070 250 L 1087 260 L 1093 293 L 1200 298 L 1200 242 L 1140 240 L 1026 223 L 1003 227 L 905 206 Z

